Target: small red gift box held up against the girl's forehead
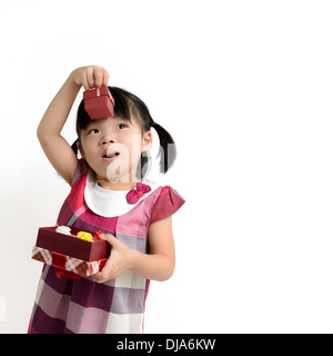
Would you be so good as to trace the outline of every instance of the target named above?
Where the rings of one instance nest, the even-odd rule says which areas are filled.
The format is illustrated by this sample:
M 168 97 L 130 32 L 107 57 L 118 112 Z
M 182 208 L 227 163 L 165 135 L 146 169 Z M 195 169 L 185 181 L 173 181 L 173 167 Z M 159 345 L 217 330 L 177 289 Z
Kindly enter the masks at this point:
M 83 91 L 84 109 L 91 119 L 113 116 L 114 99 L 108 87 L 98 87 Z

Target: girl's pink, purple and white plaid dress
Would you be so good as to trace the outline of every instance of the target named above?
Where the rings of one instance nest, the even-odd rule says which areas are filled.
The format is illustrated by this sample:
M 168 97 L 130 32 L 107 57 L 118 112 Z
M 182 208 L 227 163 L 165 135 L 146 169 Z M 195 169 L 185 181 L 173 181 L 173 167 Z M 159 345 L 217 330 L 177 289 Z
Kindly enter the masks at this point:
M 132 249 L 149 253 L 148 228 L 171 216 L 184 202 L 171 187 L 153 187 L 127 212 L 104 217 L 92 211 L 84 199 L 90 168 L 80 160 L 73 184 L 60 210 L 57 225 L 112 234 Z M 149 279 L 124 271 L 103 284 L 91 277 L 58 278 L 56 268 L 44 265 L 30 319 L 29 334 L 137 334 L 143 333 Z

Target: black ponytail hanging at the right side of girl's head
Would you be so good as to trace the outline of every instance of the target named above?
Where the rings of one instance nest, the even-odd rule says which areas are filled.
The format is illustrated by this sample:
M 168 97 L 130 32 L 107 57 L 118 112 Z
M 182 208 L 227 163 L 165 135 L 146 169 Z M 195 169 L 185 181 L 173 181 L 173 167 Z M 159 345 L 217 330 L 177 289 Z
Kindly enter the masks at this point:
M 153 122 L 151 126 L 157 130 L 160 139 L 160 170 L 167 174 L 175 160 L 175 144 L 172 136 L 161 125 Z

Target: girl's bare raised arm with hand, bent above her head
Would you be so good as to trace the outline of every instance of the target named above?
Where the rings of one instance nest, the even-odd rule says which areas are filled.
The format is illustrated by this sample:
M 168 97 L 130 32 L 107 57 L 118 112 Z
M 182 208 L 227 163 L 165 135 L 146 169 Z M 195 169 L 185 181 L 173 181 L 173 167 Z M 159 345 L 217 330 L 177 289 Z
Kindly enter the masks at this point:
M 102 67 L 89 66 L 73 70 L 49 105 L 38 126 L 37 136 L 44 154 L 69 185 L 72 184 L 78 157 L 61 136 L 61 130 L 80 88 L 83 86 L 87 90 L 101 85 L 107 86 L 108 81 L 109 75 Z

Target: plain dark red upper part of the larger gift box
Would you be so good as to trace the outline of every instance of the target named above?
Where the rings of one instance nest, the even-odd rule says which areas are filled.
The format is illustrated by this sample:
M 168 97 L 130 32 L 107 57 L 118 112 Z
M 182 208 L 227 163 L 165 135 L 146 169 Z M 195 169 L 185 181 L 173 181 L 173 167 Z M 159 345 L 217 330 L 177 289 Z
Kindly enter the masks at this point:
M 69 227 L 71 228 L 72 235 L 57 233 L 57 226 L 39 228 L 36 246 L 87 261 L 108 258 L 110 256 L 111 248 L 105 240 L 82 240 L 75 236 L 79 231 L 82 231 L 82 228 Z M 95 233 L 84 231 L 91 235 Z

